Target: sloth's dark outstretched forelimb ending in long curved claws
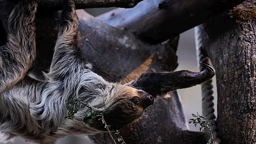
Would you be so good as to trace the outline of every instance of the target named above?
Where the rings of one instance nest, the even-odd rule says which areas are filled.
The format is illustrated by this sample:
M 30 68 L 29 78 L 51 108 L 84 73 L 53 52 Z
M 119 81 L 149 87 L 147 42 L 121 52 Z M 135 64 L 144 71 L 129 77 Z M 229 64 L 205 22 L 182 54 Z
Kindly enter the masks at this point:
M 206 64 L 202 72 L 181 70 L 176 72 L 145 73 L 137 80 L 128 84 L 137 89 L 143 89 L 152 96 L 165 95 L 175 89 L 183 89 L 208 81 L 215 75 L 215 70 Z

